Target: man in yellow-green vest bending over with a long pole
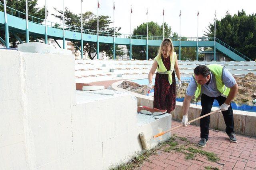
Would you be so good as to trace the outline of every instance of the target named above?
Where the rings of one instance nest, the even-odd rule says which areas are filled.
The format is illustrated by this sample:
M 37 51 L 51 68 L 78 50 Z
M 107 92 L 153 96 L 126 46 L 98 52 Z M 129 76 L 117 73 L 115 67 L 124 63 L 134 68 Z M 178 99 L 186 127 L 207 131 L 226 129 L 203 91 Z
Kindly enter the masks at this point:
M 188 125 L 188 109 L 192 96 L 195 94 L 196 102 L 201 98 L 202 112 L 200 116 L 210 113 L 214 99 L 218 101 L 225 124 L 226 133 L 231 142 L 237 142 L 234 134 L 234 118 L 233 110 L 230 102 L 236 96 L 238 85 L 236 80 L 219 64 L 211 64 L 209 66 L 200 65 L 194 69 L 194 75 L 188 85 L 186 96 L 183 102 L 183 118 L 182 124 Z M 201 140 L 198 146 L 204 147 L 208 142 L 210 116 L 200 119 Z

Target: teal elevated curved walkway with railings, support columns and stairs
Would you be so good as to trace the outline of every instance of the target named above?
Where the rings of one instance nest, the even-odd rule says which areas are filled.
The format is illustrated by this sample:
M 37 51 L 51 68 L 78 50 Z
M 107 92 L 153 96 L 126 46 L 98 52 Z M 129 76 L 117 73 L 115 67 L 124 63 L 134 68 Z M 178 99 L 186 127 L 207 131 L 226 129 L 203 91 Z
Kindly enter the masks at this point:
M 0 2 L 0 6 L 4 6 Z M 18 10 L 15 10 L 13 8 L 10 8 L 6 6 L 6 14 L 7 14 L 7 21 L 5 22 L 4 19 L 4 12 L 0 11 L 0 30 L 5 30 L 8 29 L 7 32 L 10 32 L 12 34 L 16 33 L 21 33 L 24 34 L 24 30 L 26 30 L 26 14 L 24 12 L 20 12 Z M 5 25 L 4 27 L 1 25 Z M 28 15 L 28 32 L 30 36 L 33 36 L 34 38 L 43 38 L 45 37 L 45 24 L 47 26 L 48 30 L 48 35 L 46 37 L 48 38 L 53 38 L 54 40 L 56 39 L 63 39 L 65 40 L 70 40 L 73 42 L 100 42 L 100 43 L 109 43 L 113 44 L 113 46 L 116 45 L 128 45 L 130 46 L 130 59 L 132 59 L 132 46 L 146 46 L 146 59 L 148 59 L 148 46 L 160 46 L 163 37 L 162 36 L 148 36 L 148 41 L 147 36 L 144 35 L 132 35 L 131 40 L 130 40 L 130 34 L 120 34 L 116 33 L 115 34 L 115 42 L 113 40 L 114 34 L 111 32 L 104 32 L 104 31 L 99 31 L 99 38 L 97 39 L 97 30 L 89 30 L 89 29 L 82 29 L 83 33 L 83 39 L 81 40 L 81 28 L 74 27 L 74 26 L 69 26 L 64 24 L 64 30 L 65 30 L 65 37 L 62 36 L 63 33 L 63 24 L 59 24 L 56 22 L 50 22 L 46 21 L 41 18 L 37 18 L 35 16 Z M 28 35 L 26 35 L 28 36 Z M 15 35 L 15 37 L 17 37 Z M 18 37 L 17 37 L 18 38 Z M 197 38 L 196 37 L 182 37 L 181 38 L 181 43 L 179 43 L 179 38 L 177 37 L 169 37 L 172 39 L 173 44 L 175 47 L 179 47 L 179 54 L 180 54 L 180 49 L 182 47 L 196 47 L 196 56 L 198 60 L 198 48 L 199 47 L 214 47 L 214 56 L 216 54 L 216 49 L 219 50 L 220 52 L 226 54 L 233 60 L 238 60 L 238 61 L 245 61 L 245 60 L 250 60 L 247 56 L 244 54 L 238 52 L 234 48 L 230 47 L 228 44 L 224 43 L 223 41 L 219 40 L 216 38 L 216 46 L 214 46 L 214 38 L 212 37 L 199 37 L 198 38 L 198 43 L 197 43 Z M 20 40 L 20 39 L 19 39 Z M 7 41 L 4 41 L 3 38 L 0 37 L 0 41 L 2 41 L 3 44 L 6 45 Z M 20 40 L 22 43 L 22 41 Z M 114 48 L 115 49 L 115 48 Z M 78 48 L 78 50 L 80 50 Z M 81 51 L 81 50 L 80 50 Z M 97 50 L 95 49 L 97 54 L 99 53 L 98 48 Z M 114 58 L 115 58 L 115 50 L 113 51 L 114 53 Z M 98 55 L 97 55 L 98 56 Z M 181 58 L 181 54 L 179 55 L 179 59 Z M 215 58 L 214 58 L 215 60 Z

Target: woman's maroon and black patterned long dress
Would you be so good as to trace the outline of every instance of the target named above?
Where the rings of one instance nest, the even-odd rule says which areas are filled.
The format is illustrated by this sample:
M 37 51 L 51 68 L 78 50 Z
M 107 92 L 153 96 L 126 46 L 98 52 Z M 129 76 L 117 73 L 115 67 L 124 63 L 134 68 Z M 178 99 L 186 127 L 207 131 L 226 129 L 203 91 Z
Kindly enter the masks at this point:
M 162 61 L 167 70 L 170 70 L 170 57 L 163 58 Z M 176 105 L 176 80 L 174 71 L 172 72 L 172 84 L 168 81 L 168 74 L 156 73 L 154 88 L 154 108 L 167 110 L 168 113 L 174 110 Z

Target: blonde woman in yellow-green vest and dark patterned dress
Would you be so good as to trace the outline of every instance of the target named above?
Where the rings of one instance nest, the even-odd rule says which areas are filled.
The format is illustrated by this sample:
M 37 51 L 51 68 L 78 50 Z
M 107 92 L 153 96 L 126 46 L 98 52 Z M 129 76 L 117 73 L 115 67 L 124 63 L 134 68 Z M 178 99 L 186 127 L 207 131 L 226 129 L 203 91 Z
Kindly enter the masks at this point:
M 180 69 L 178 66 L 177 54 L 174 52 L 172 40 L 165 38 L 162 42 L 158 55 L 148 73 L 148 88 L 152 88 L 152 78 L 156 73 L 154 87 L 154 108 L 167 110 L 168 113 L 174 110 L 176 105 L 176 80 L 174 70 L 178 77 L 177 90 L 182 86 L 180 80 Z

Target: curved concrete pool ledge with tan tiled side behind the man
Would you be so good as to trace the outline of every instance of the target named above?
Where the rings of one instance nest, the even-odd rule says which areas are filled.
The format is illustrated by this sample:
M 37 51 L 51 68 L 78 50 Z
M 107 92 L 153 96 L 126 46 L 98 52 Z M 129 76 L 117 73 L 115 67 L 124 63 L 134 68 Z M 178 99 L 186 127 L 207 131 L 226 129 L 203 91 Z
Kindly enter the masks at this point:
M 135 80 L 130 79 L 128 81 Z M 121 84 L 122 81 L 118 81 L 112 84 L 112 88 L 118 91 L 128 91 L 123 88 L 118 88 L 117 86 Z M 132 95 L 136 96 L 138 106 L 147 106 L 153 108 L 153 97 L 144 96 L 134 92 L 130 92 Z M 172 112 L 172 120 L 180 121 L 182 120 L 182 102 L 176 102 L 175 110 Z M 217 110 L 217 107 L 212 107 L 212 111 Z M 188 120 L 198 118 L 201 114 L 201 105 L 190 104 L 190 109 L 188 113 Z M 234 130 L 237 134 L 244 134 L 248 136 L 256 136 L 256 113 L 246 112 L 240 110 L 233 110 L 234 114 Z M 192 123 L 193 125 L 200 125 L 200 121 Z M 215 113 L 210 115 L 210 128 L 216 130 L 225 131 L 226 125 L 222 113 Z

